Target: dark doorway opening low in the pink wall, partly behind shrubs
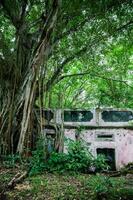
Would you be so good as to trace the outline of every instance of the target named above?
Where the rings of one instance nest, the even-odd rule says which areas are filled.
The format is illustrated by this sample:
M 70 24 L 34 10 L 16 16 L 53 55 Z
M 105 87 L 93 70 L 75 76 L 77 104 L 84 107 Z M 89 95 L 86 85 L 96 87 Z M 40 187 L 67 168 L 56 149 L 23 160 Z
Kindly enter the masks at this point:
M 110 170 L 116 170 L 115 166 L 115 149 L 108 148 L 98 148 L 97 155 L 102 154 L 106 158 L 107 164 L 110 166 Z

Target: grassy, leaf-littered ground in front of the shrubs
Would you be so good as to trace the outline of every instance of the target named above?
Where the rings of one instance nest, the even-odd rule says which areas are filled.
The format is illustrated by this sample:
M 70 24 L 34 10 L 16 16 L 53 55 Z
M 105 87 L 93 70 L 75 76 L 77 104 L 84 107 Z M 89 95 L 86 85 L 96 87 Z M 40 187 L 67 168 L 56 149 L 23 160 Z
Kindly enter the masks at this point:
M 19 168 L 0 168 L 0 194 Z M 110 182 L 111 179 L 111 182 Z M 110 185 L 113 183 L 113 187 Z M 133 174 L 120 177 L 89 174 L 50 174 L 29 176 L 0 200 L 133 200 Z

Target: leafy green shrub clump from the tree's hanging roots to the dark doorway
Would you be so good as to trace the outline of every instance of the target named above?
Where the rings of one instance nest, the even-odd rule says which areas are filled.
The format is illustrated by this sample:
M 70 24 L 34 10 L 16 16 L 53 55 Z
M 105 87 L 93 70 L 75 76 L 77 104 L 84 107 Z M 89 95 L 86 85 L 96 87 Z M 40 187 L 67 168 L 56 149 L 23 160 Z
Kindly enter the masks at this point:
M 103 156 L 94 158 L 82 141 L 69 141 L 67 153 L 52 152 L 46 160 L 42 139 L 39 139 L 37 148 L 33 151 L 30 160 L 30 175 L 41 171 L 49 172 L 83 172 L 88 173 L 92 166 L 96 170 L 107 167 Z

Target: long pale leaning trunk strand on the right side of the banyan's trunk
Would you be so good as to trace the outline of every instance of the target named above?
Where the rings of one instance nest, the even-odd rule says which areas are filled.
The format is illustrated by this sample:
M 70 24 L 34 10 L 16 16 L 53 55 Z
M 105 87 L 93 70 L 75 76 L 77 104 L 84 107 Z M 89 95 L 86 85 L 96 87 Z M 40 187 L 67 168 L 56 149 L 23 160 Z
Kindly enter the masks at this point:
M 19 154 L 22 154 L 24 147 L 24 140 L 28 130 L 29 122 L 30 122 L 30 114 L 34 104 L 34 96 L 36 93 L 36 85 L 37 78 L 39 77 L 40 67 L 43 63 L 43 60 L 46 59 L 46 52 L 50 48 L 50 38 L 53 32 L 53 28 L 55 26 L 57 20 L 57 14 L 59 9 L 58 0 L 53 1 L 53 7 L 51 9 L 51 13 L 48 16 L 47 24 L 44 27 L 44 31 L 40 38 L 40 42 L 38 47 L 35 50 L 35 56 L 30 66 L 31 78 L 28 80 L 26 84 L 26 92 L 25 92 L 25 102 L 23 109 L 23 118 L 21 123 L 21 132 L 18 142 L 17 151 Z

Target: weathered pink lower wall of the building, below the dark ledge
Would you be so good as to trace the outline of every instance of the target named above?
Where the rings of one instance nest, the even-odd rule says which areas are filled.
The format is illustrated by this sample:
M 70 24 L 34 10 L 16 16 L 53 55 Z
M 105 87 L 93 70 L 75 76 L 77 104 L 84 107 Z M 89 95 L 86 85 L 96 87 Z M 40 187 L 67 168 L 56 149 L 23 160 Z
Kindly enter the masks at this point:
M 65 129 L 65 137 L 75 140 L 76 129 Z M 98 139 L 97 135 L 113 135 L 110 139 Z M 133 162 L 133 130 L 102 128 L 88 129 L 80 133 L 80 137 L 90 146 L 91 153 L 96 156 L 97 148 L 115 149 L 116 168 L 119 169 L 129 162 Z M 64 151 L 67 150 L 65 146 Z

